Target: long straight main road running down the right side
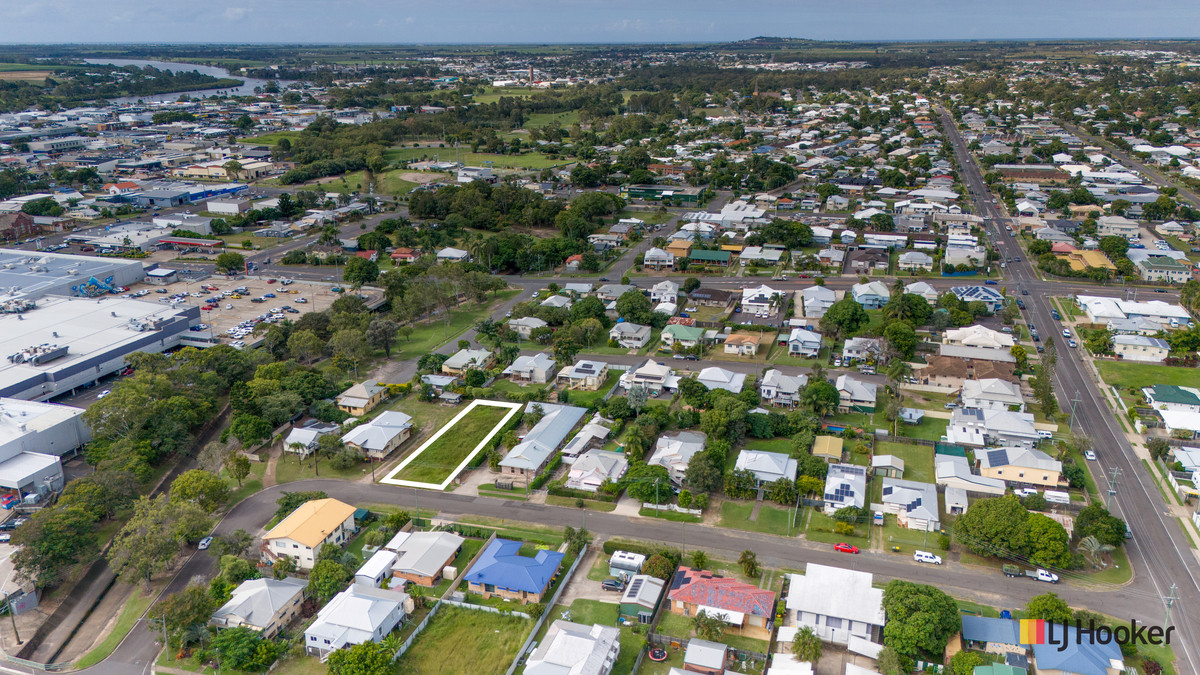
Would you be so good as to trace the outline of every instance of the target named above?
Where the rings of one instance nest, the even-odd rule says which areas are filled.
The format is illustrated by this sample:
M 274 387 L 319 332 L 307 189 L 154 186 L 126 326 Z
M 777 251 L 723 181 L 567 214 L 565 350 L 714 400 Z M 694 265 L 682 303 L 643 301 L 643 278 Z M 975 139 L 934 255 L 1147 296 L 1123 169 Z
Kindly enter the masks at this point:
M 942 110 L 942 126 L 954 145 L 959 161 L 960 177 L 972 195 L 983 196 L 977 199 L 978 214 L 986 220 L 988 231 L 992 234 L 1004 257 L 1015 257 L 1020 246 L 1015 238 L 1006 235 L 1004 225 L 1009 219 L 992 205 L 988 187 L 983 181 L 978 165 L 966 150 L 961 135 L 954 126 L 949 114 Z M 1060 406 L 1069 408 L 1069 401 L 1078 399 L 1075 424 L 1091 436 L 1096 454 L 1099 458 L 1100 471 L 1096 472 L 1097 484 L 1105 485 L 1104 473 L 1111 468 L 1121 471 L 1121 479 L 1115 497 L 1109 498 L 1110 508 L 1126 519 L 1134 532 L 1134 538 L 1127 544 L 1129 560 L 1138 571 L 1135 586 L 1142 598 L 1139 610 L 1150 614 L 1153 621 L 1164 619 L 1164 603 L 1160 598 L 1170 593 L 1172 585 L 1180 598 L 1171 611 L 1171 621 L 1177 627 L 1178 644 L 1175 656 L 1180 659 L 1180 673 L 1200 673 L 1196 649 L 1200 646 L 1200 632 L 1196 621 L 1200 619 L 1200 587 L 1196 584 L 1194 569 L 1195 557 L 1190 544 L 1181 532 L 1178 522 L 1170 514 L 1153 479 L 1146 476 L 1136 453 L 1129 446 L 1120 424 L 1114 419 L 1098 384 L 1091 377 L 1084 357 L 1078 350 L 1070 350 L 1061 336 L 1058 324 L 1050 316 L 1048 295 L 1062 294 L 1062 286 L 1037 281 L 1036 273 L 1027 258 L 1019 264 L 1010 264 L 1008 273 L 1021 283 L 1028 285 L 1031 295 L 1027 303 L 1027 318 L 1043 325 L 1048 340 L 1057 346 L 1058 366 L 1055 371 L 1055 389 Z M 1091 467 L 1090 467 L 1091 468 Z M 1132 608 L 1118 608 L 1104 603 L 1106 614 L 1134 611 Z

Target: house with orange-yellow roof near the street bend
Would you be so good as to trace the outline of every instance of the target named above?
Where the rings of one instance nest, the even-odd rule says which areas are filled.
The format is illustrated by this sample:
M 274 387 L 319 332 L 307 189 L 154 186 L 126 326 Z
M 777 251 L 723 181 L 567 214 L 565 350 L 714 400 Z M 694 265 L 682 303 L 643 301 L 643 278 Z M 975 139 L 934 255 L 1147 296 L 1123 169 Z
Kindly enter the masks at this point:
M 264 560 L 274 562 L 286 555 L 295 560 L 300 569 L 312 569 L 320 546 L 341 546 L 358 530 L 354 510 L 350 504 L 330 498 L 300 504 L 263 536 Z

